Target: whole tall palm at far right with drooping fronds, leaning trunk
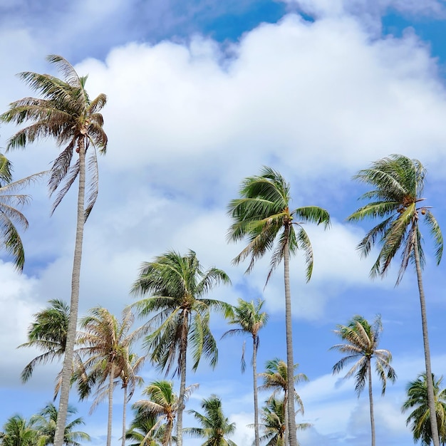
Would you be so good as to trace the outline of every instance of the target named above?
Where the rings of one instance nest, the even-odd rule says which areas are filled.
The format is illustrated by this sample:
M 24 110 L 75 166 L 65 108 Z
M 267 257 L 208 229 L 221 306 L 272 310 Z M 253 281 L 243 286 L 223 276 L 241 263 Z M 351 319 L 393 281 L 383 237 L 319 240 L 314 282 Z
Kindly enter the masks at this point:
M 379 218 L 381 221 L 365 235 L 358 249 L 363 256 L 370 253 L 375 243 L 381 250 L 370 276 L 384 276 L 395 255 L 400 251 L 402 260 L 396 284 L 403 278 L 409 262 L 415 265 L 420 296 L 420 311 L 422 323 L 422 339 L 425 349 L 425 365 L 427 376 L 427 395 L 429 408 L 435 411 L 435 399 L 432 383 L 432 367 L 430 365 L 430 346 L 427 332 L 427 316 L 425 292 L 422 285 L 422 267 L 425 256 L 422 250 L 422 235 L 420 218 L 429 229 L 435 243 L 435 258 L 440 263 L 443 251 L 443 237 L 437 220 L 430 212 L 430 206 L 422 203 L 425 198 L 422 193 L 425 186 L 426 170 L 420 161 L 411 160 L 403 155 L 390 155 L 375 161 L 368 169 L 360 170 L 355 180 L 373 187 L 373 190 L 362 195 L 369 202 L 353 212 L 348 220 L 358 222 L 368 218 Z M 437 435 L 437 419 L 432 417 L 432 432 L 434 446 L 440 445 Z

